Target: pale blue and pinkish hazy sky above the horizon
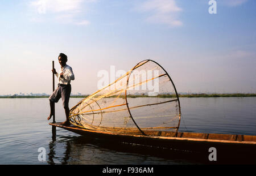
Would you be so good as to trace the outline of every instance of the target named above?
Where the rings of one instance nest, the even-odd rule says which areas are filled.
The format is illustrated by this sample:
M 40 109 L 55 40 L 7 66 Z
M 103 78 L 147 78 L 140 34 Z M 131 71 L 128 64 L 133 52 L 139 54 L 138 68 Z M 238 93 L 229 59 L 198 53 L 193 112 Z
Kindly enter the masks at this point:
M 152 59 L 178 92 L 256 93 L 256 1 L 2 0 L 0 95 L 51 93 L 68 55 L 72 93 L 97 91 L 100 70 Z

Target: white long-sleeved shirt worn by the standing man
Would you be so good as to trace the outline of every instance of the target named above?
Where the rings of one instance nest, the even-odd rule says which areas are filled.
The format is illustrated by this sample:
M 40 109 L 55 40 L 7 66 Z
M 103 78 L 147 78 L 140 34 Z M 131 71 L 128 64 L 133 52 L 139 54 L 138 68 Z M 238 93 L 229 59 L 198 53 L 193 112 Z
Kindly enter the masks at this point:
M 75 80 L 75 75 L 73 74 L 72 68 L 67 64 L 64 67 L 60 68 L 60 73 L 63 72 L 63 78 L 60 78 L 60 74 L 56 73 L 55 75 L 58 78 L 60 84 L 70 84 L 71 80 Z

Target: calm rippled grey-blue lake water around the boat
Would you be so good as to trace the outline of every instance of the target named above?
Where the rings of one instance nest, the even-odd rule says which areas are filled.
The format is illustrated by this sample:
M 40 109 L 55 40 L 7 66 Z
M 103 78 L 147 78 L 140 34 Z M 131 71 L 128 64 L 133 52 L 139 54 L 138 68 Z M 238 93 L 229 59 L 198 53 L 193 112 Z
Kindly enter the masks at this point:
M 81 98 L 71 98 L 75 105 Z M 180 98 L 179 131 L 256 135 L 256 97 Z M 134 145 L 84 138 L 57 128 L 52 140 L 47 98 L 0 98 L 0 164 L 197 164 L 181 153 L 167 155 Z M 61 103 L 56 121 L 64 121 Z M 52 121 L 52 120 L 50 120 Z M 38 149 L 46 148 L 46 161 Z M 200 163 L 200 162 L 199 162 Z

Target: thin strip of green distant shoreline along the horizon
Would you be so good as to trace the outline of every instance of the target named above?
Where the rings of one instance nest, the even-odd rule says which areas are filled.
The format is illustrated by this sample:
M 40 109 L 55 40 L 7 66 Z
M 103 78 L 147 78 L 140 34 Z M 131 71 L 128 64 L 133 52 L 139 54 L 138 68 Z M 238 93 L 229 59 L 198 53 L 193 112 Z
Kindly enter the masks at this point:
M 85 98 L 88 97 L 89 95 L 75 95 L 71 96 L 71 98 Z M 49 96 L 0 96 L 0 98 L 48 98 Z M 113 96 L 117 97 L 117 96 Z M 124 98 L 124 96 L 120 96 Z M 127 95 L 129 98 L 138 98 L 138 97 L 151 97 L 151 96 L 146 96 L 146 95 Z M 172 98 L 176 97 L 175 95 L 158 95 L 156 97 L 159 98 Z M 207 93 L 191 93 L 191 94 L 179 94 L 179 97 L 188 97 L 188 98 L 193 98 L 193 97 L 256 97 L 256 93 L 213 93 L 213 94 L 207 94 Z

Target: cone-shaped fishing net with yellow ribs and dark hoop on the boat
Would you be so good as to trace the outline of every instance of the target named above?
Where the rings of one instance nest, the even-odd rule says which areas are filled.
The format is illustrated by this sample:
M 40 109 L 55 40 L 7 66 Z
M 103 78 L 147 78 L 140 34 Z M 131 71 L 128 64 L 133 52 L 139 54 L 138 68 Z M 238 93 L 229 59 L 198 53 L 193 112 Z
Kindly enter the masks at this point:
M 70 110 L 73 125 L 112 133 L 177 131 L 180 102 L 174 83 L 158 63 L 139 62 Z

